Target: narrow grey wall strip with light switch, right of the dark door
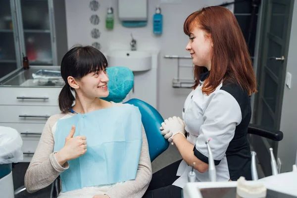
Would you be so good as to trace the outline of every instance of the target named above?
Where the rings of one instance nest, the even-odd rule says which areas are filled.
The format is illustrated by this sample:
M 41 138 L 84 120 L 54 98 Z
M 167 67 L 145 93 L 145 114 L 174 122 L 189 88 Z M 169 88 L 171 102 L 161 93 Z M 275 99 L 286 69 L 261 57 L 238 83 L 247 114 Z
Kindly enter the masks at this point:
M 291 27 L 290 45 L 287 62 L 287 72 L 292 74 L 291 89 L 285 86 L 281 126 L 284 139 L 279 143 L 278 157 L 282 161 L 282 172 L 292 171 L 296 163 L 297 151 L 297 5 L 294 6 Z M 283 144 L 285 143 L 285 144 Z

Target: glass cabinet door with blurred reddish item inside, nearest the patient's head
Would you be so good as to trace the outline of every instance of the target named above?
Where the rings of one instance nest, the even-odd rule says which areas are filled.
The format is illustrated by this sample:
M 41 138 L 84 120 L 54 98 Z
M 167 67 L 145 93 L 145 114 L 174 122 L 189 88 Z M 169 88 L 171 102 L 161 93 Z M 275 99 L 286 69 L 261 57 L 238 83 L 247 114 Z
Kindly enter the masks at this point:
M 53 11 L 51 0 L 17 0 L 20 15 L 22 51 L 30 65 L 56 64 Z

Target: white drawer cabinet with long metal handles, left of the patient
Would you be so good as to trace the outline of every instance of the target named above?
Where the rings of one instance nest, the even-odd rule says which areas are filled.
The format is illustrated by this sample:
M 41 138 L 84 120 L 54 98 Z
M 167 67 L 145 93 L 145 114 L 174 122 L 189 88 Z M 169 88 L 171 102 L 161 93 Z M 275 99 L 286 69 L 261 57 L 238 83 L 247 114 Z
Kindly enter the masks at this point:
M 59 67 L 52 66 L 53 69 Z M 0 82 L 0 126 L 16 129 L 23 140 L 24 162 L 30 162 L 49 116 L 60 113 L 60 85 L 30 84 L 32 73 L 43 67 L 30 67 Z

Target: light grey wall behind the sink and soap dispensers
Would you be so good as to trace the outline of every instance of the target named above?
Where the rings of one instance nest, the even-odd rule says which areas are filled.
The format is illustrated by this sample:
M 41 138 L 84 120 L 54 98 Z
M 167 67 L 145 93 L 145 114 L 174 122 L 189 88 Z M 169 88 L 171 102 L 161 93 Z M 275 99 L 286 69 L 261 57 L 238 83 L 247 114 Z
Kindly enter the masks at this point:
M 177 60 L 165 59 L 164 55 L 190 55 L 186 51 L 188 36 L 183 32 L 185 19 L 192 12 L 203 6 L 217 5 L 226 0 L 180 0 L 182 3 L 160 3 L 161 0 L 148 0 L 148 25 L 142 28 L 126 28 L 117 18 L 117 0 L 98 0 L 100 7 L 97 11 L 89 8 L 89 0 L 65 0 L 68 48 L 75 44 L 92 45 L 97 41 L 102 46 L 101 51 L 121 48 L 130 49 L 130 33 L 137 40 L 137 49 L 159 49 L 159 76 L 158 76 L 158 110 L 165 118 L 181 116 L 184 100 L 190 89 L 172 88 L 172 79 L 177 76 Z M 170 0 L 167 0 L 170 1 Z M 176 1 L 176 0 L 175 0 Z M 155 36 L 152 33 L 152 16 L 155 7 L 160 5 L 163 14 L 163 34 Z M 107 7 L 112 6 L 115 13 L 115 24 L 112 31 L 105 29 L 105 16 Z M 233 8 L 230 7 L 232 10 Z M 97 14 L 99 25 L 90 23 L 90 16 Z M 58 20 L 58 19 L 57 19 Z M 98 28 L 101 32 L 99 39 L 91 37 L 91 30 Z M 184 65 L 191 65 L 188 60 Z M 192 68 L 183 68 L 181 76 L 192 78 Z M 149 82 L 148 82 L 149 83 Z

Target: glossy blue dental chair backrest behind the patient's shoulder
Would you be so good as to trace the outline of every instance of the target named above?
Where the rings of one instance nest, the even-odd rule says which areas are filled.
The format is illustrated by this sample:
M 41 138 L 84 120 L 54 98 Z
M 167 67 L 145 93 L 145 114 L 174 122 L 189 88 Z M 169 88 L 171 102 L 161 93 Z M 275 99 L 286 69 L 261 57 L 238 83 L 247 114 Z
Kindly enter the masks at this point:
M 169 147 L 169 142 L 165 140 L 160 131 L 164 119 L 154 107 L 140 99 L 130 99 L 124 103 L 133 104 L 139 108 L 148 139 L 150 161 L 153 161 Z

